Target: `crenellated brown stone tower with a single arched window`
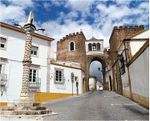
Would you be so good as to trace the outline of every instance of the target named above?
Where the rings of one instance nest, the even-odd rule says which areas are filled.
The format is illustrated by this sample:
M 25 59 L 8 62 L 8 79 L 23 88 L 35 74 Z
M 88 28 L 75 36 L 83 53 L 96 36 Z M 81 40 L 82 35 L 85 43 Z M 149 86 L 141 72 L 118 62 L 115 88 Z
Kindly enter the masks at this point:
M 73 61 L 81 64 L 82 70 L 86 71 L 86 38 L 83 32 L 66 35 L 57 42 L 57 60 Z

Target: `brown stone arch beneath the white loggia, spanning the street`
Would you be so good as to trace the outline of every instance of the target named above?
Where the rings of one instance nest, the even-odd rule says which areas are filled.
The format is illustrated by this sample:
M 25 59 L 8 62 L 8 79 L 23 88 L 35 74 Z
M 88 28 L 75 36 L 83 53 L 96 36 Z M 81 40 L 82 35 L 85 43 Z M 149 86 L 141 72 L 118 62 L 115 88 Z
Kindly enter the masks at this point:
M 90 71 L 90 64 L 93 61 L 99 61 L 102 64 L 102 74 L 103 74 L 103 89 L 106 89 L 106 79 L 105 79 L 105 67 L 106 67 L 106 61 L 104 55 L 88 55 L 87 56 L 87 87 L 89 87 L 89 71 Z

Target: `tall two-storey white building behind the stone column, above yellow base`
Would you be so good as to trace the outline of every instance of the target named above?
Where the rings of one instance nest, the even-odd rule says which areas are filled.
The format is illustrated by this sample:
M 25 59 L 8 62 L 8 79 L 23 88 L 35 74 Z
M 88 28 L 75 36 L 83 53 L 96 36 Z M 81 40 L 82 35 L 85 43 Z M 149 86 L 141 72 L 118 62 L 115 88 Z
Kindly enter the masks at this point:
M 49 81 L 50 37 L 34 33 L 30 91 L 47 91 Z M 22 87 L 25 32 L 12 25 L 0 23 L 0 102 L 18 101 Z

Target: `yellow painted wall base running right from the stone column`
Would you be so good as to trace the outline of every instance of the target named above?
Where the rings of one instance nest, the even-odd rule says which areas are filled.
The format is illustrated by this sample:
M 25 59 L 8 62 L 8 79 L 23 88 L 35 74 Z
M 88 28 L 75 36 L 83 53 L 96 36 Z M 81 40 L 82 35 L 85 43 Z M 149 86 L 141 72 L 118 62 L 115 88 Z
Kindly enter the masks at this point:
M 73 94 L 76 95 L 76 94 Z M 61 98 L 66 98 L 72 96 L 70 93 L 47 93 L 47 92 L 35 92 L 35 102 L 48 102 L 53 101 Z

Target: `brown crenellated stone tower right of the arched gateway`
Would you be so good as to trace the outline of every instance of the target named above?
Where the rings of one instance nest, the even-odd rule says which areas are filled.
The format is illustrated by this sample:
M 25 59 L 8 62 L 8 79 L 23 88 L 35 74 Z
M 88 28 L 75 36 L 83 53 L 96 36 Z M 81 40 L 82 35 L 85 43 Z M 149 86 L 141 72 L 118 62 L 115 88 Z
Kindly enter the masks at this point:
M 118 52 L 119 47 L 124 39 L 131 38 L 133 35 L 144 30 L 144 26 L 120 26 L 114 27 L 112 34 L 109 39 L 110 44 L 110 57 L 111 57 L 111 68 L 112 68 L 112 79 L 113 79 L 113 90 L 122 94 L 122 80 L 120 76 Z

